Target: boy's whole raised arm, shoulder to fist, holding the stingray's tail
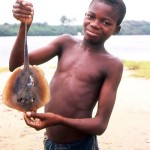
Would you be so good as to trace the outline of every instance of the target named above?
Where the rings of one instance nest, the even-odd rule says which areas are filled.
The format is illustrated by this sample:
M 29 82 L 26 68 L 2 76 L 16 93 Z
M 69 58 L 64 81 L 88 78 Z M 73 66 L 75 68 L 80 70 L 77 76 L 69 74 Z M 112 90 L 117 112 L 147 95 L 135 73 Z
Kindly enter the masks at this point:
M 24 60 L 24 40 L 25 40 L 25 24 L 24 24 L 24 17 L 28 21 L 28 30 L 32 23 L 31 18 L 33 18 L 34 10 L 31 3 L 26 2 L 23 3 L 22 0 L 18 0 L 16 4 L 13 6 L 13 15 L 16 19 L 21 21 L 19 33 L 15 44 L 12 48 L 10 59 L 9 59 L 9 69 L 13 71 L 17 67 L 23 65 Z M 64 41 L 70 40 L 71 38 L 67 35 L 61 35 L 53 42 L 49 43 L 48 45 L 34 50 L 29 53 L 29 63 L 30 65 L 39 65 L 45 63 L 46 61 L 50 60 L 52 57 L 59 55 L 60 50 L 62 50 L 62 45 Z M 35 43 L 36 44 L 36 43 Z

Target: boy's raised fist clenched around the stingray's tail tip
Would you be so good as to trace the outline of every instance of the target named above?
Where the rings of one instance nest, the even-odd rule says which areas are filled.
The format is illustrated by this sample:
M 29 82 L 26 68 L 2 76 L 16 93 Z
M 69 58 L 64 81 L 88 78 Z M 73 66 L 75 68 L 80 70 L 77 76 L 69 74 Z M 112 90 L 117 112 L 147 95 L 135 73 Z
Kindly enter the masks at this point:
M 30 2 L 24 0 L 17 0 L 13 5 L 13 16 L 21 22 L 27 22 L 31 24 L 34 15 L 33 5 Z

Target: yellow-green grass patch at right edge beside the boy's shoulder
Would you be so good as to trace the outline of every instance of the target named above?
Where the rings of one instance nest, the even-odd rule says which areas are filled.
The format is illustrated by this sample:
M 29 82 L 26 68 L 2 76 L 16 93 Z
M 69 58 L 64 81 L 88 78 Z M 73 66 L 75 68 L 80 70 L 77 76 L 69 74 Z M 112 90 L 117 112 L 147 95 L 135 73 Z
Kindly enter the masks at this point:
M 150 79 L 150 61 L 123 61 L 126 68 L 131 70 L 133 77 Z

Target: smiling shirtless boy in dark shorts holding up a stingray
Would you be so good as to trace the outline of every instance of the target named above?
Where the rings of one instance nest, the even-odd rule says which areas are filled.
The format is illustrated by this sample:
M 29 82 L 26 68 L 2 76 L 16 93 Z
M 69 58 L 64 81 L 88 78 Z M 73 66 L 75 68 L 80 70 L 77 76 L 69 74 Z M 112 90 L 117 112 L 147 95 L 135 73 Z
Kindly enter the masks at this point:
M 85 14 L 83 40 L 61 35 L 29 54 L 31 65 L 58 56 L 45 113 L 24 115 L 27 125 L 36 130 L 46 128 L 46 150 L 98 149 L 96 135 L 107 128 L 123 71 L 122 62 L 106 51 L 104 43 L 119 32 L 125 13 L 122 0 L 93 0 Z M 17 0 L 13 15 L 21 25 L 10 56 L 11 71 L 23 63 L 24 22 L 29 28 L 33 14 L 31 3 Z M 97 102 L 97 113 L 92 118 Z

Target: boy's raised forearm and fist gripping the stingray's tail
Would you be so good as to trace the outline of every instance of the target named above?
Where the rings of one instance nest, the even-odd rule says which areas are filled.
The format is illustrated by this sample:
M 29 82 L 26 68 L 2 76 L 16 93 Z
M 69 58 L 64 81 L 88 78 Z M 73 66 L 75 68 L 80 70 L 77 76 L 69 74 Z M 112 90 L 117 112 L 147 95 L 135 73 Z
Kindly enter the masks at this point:
M 23 50 L 24 50 L 24 39 L 25 39 L 25 22 L 28 24 L 28 30 L 33 20 L 34 9 L 30 2 L 25 2 L 23 0 L 17 0 L 13 5 L 13 16 L 21 22 L 19 33 L 15 44 L 12 48 L 9 69 L 13 71 L 16 67 L 23 64 Z

